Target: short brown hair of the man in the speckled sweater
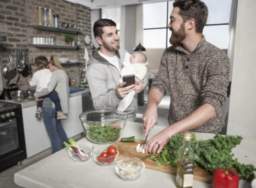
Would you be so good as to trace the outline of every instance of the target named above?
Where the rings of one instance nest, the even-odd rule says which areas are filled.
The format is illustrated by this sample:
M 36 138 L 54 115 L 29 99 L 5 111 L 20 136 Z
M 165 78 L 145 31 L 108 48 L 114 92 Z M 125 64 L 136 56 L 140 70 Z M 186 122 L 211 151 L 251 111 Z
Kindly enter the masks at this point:
M 195 32 L 202 33 L 207 21 L 208 9 L 205 3 L 200 0 L 177 0 L 173 7 L 179 7 L 179 14 L 183 21 L 195 19 Z

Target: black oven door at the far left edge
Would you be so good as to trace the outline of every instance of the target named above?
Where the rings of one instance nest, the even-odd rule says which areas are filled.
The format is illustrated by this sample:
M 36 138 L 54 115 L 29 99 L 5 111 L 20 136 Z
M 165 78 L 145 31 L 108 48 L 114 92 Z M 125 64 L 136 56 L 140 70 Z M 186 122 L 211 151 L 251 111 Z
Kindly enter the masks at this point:
M 26 158 L 22 116 L 0 122 L 0 171 Z

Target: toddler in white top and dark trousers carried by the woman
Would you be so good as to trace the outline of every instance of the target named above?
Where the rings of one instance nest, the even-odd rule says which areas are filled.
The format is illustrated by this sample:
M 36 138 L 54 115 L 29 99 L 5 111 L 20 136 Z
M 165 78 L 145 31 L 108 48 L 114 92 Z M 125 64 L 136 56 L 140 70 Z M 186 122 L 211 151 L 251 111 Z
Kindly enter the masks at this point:
M 36 73 L 34 73 L 32 79 L 28 79 L 28 83 L 31 87 L 36 86 L 36 92 L 42 91 L 48 87 L 49 82 L 51 81 L 51 71 L 46 68 L 48 65 L 48 59 L 44 56 L 38 56 L 35 60 L 36 64 Z M 53 103 L 55 103 L 55 109 L 57 111 L 57 119 L 67 119 L 67 116 L 62 112 L 61 103 L 59 101 L 59 96 L 56 91 L 49 93 L 48 95 L 44 95 L 40 98 L 49 97 Z M 41 118 L 42 113 L 42 101 L 37 102 L 36 106 L 36 118 Z

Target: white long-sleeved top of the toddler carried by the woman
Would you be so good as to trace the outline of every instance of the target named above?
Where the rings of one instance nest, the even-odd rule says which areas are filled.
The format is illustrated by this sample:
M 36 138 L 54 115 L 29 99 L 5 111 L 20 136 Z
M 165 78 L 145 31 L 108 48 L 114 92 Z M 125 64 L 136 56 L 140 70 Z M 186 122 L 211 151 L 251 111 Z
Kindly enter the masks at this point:
M 42 89 L 48 87 L 49 82 L 51 81 L 51 76 L 52 72 L 48 68 L 38 70 L 34 73 L 30 81 L 30 86 L 36 86 L 36 92 L 40 92 Z

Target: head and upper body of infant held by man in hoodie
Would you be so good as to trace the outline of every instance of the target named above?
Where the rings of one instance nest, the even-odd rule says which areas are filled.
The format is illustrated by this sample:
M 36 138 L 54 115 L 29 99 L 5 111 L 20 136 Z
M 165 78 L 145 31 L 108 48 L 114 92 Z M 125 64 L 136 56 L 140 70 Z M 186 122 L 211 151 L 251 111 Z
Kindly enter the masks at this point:
M 142 81 L 148 70 L 146 66 L 148 65 L 147 56 L 142 52 L 134 52 L 131 54 L 130 63 L 135 71 L 135 77 Z

